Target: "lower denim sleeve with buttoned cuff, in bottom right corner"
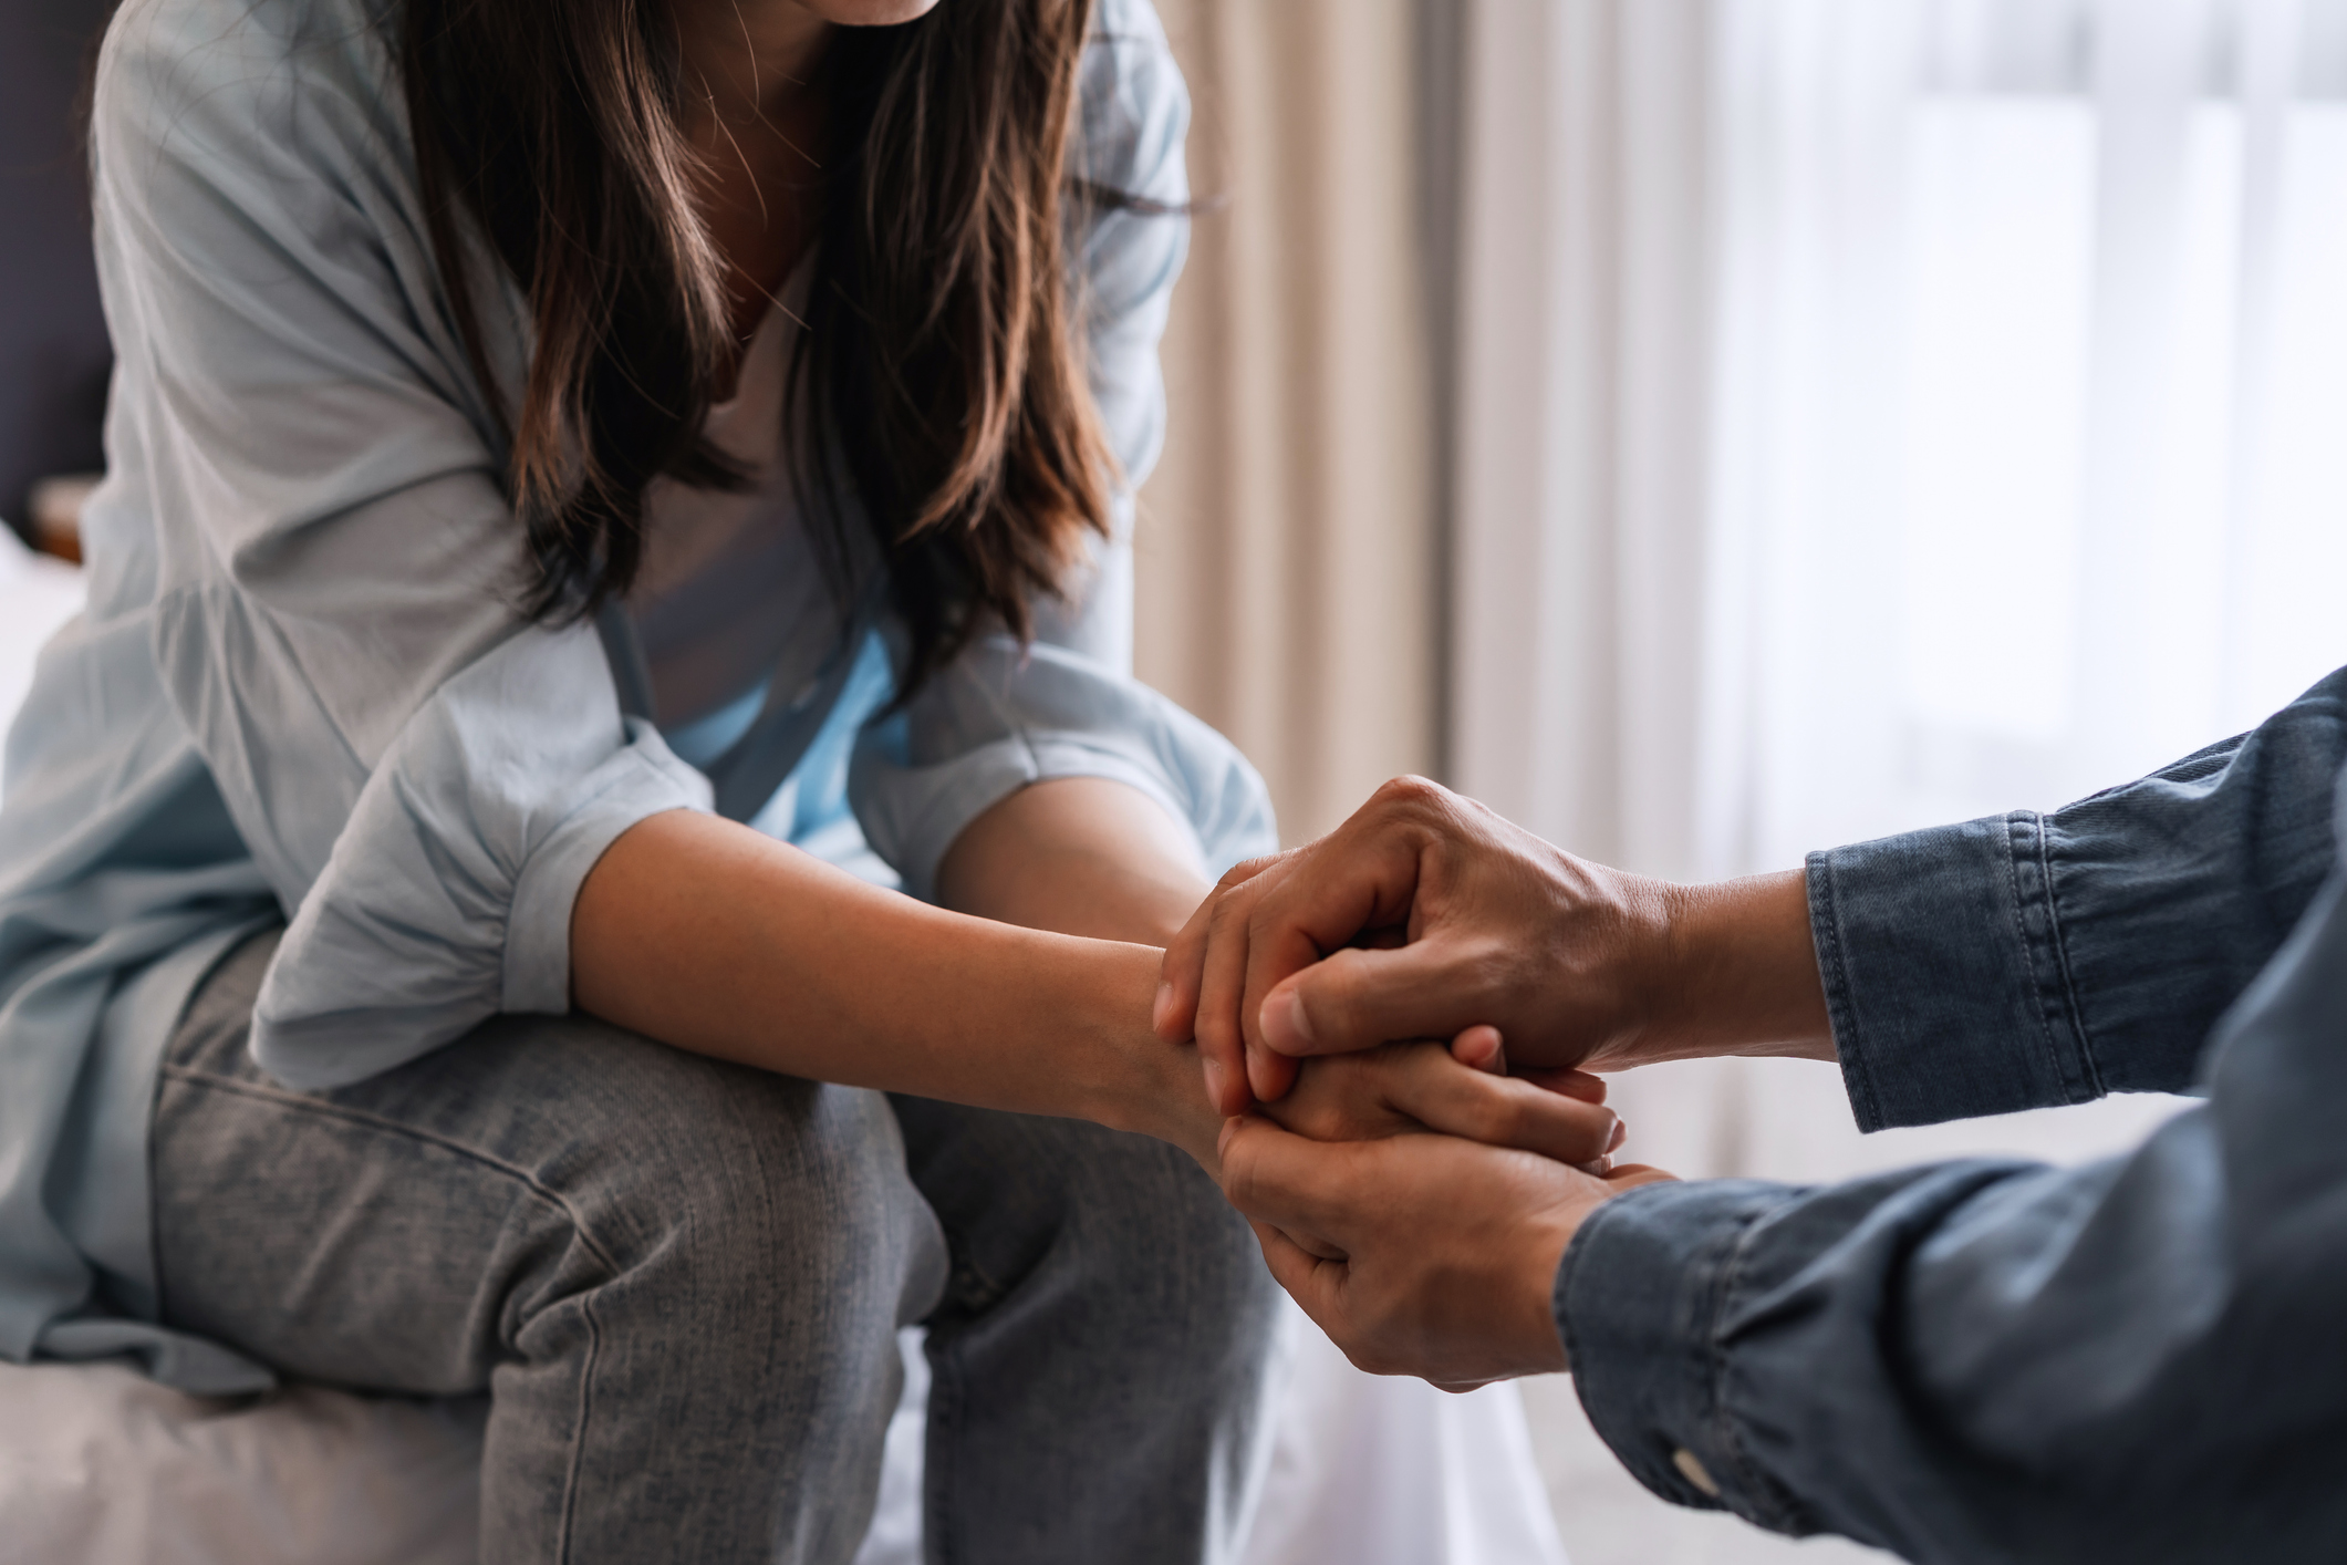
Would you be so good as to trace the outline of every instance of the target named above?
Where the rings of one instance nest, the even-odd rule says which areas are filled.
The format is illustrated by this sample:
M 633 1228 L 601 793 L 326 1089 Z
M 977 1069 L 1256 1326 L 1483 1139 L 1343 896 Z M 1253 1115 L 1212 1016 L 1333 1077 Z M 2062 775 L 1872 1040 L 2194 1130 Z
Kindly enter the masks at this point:
M 1556 1276 L 1582 1403 L 1666 1499 L 1925 1565 L 2338 1560 L 2340 1037 L 2333 878 L 2131 1157 L 1610 1201 Z

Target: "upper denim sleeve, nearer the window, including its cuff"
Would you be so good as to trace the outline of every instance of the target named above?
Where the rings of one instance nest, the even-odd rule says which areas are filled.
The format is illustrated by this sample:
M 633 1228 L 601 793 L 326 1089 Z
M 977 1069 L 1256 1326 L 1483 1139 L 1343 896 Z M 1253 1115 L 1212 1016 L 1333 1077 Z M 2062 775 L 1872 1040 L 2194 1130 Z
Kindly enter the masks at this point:
M 1810 854 L 1861 1129 L 2183 1091 L 2331 861 L 2347 669 L 2248 734 L 2054 814 Z

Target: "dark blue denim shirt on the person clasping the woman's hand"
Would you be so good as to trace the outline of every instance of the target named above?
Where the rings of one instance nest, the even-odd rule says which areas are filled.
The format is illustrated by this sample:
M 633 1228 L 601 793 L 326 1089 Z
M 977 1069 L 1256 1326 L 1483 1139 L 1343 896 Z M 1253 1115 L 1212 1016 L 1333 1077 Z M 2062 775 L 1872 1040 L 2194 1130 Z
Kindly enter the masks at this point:
M 1910 1560 L 2347 1558 L 2347 669 L 2049 817 L 1810 859 L 1864 1129 L 2197 1089 L 2129 1157 L 1657 1185 L 1556 1276 L 1666 1499 Z

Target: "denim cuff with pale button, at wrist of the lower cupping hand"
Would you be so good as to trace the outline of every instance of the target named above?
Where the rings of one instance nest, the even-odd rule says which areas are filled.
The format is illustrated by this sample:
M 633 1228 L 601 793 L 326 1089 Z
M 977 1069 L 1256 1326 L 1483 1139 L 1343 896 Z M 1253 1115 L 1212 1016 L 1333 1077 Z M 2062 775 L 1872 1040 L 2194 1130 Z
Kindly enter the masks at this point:
M 1741 1452 L 1718 1321 L 1753 1225 L 1798 1190 L 1643 1185 L 1598 1206 L 1556 1267 L 1556 1330 L 1589 1424 L 1664 1499 L 1802 1532 L 1798 1502 Z

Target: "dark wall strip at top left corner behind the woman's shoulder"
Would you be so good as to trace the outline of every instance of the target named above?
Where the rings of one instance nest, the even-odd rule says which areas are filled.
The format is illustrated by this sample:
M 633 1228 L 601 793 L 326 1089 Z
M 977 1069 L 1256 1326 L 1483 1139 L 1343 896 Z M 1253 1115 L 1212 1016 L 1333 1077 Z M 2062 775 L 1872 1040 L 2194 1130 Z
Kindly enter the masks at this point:
M 75 115 L 110 0 L 0 0 L 0 516 L 101 462 L 106 319 Z

